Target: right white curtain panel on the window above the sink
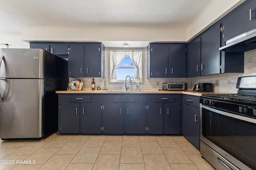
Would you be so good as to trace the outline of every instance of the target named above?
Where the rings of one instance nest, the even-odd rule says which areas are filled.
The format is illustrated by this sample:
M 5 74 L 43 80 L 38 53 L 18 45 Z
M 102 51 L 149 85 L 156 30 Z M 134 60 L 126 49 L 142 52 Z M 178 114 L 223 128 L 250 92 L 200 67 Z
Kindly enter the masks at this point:
M 137 68 L 136 74 L 135 74 L 135 79 L 137 81 L 141 81 L 142 80 L 141 51 L 129 51 L 129 56 L 130 56 L 130 59 L 132 60 L 132 63 L 134 64 L 134 66 Z

